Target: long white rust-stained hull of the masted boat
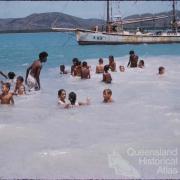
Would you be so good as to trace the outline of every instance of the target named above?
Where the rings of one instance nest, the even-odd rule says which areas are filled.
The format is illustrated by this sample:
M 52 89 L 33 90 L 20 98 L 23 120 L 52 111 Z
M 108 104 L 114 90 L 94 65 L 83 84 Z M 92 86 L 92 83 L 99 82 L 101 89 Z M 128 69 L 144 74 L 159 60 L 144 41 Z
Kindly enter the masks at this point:
M 124 34 L 108 34 L 103 32 L 86 32 L 76 31 L 77 42 L 80 45 L 95 44 L 163 44 L 163 43 L 180 43 L 180 34 L 164 34 L 164 35 L 124 35 Z

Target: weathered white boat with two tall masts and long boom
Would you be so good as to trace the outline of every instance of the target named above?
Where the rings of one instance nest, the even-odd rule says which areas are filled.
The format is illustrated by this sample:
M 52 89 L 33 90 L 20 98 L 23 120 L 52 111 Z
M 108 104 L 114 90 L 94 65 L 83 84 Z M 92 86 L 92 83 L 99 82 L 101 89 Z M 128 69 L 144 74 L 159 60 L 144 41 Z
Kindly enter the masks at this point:
M 134 33 L 124 31 L 123 25 L 150 21 L 155 19 L 166 18 L 165 16 L 158 16 L 153 18 L 138 18 L 136 20 L 126 20 L 110 22 L 109 17 L 109 1 L 107 1 L 107 23 L 106 31 L 100 32 L 98 28 L 95 31 L 86 29 L 76 29 L 76 39 L 80 45 L 92 45 L 92 44 L 140 44 L 140 43 L 180 43 L 180 33 L 177 32 L 177 21 L 175 15 L 175 1 L 173 0 L 173 20 L 172 31 L 163 33 L 142 33 L 136 31 Z M 116 29 L 113 31 L 112 29 Z

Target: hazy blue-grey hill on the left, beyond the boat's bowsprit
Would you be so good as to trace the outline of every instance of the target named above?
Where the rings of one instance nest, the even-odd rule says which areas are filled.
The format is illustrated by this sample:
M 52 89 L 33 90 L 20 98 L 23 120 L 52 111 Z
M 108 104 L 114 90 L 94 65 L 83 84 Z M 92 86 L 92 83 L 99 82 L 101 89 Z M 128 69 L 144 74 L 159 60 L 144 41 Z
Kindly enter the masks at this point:
M 104 23 L 104 20 L 100 19 L 83 19 L 52 12 L 32 14 L 25 18 L 0 19 L 0 31 L 48 30 L 51 27 L 91 29 L 95 25 L 102 26 Z

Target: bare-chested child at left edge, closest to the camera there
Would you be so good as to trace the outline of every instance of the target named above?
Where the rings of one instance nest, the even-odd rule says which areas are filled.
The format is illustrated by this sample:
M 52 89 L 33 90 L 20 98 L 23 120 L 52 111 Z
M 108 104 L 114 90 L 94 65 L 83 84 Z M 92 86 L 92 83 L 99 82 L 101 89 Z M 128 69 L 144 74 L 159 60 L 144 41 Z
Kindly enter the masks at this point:
M 3 83 L 2 93 L 0 94 L 1 104 L 14 104 L 13 93 L 9 92 L 10 83 Z

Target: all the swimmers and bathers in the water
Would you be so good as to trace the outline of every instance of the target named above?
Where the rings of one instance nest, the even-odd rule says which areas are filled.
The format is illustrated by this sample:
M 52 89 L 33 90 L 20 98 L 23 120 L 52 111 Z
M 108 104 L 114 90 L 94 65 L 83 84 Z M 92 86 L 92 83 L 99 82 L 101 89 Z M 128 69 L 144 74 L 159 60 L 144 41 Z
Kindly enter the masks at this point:
M 144 61 L 140 60 L 138 63 L 138 56 L 135 54 L 133 50 L 129 52 L 129 62 L 127 67 L 131 68 L 144 68 Z M 48 53 L 41 52 L 39 54 L 39 59 L 35 60 L 26 71 L 25 83 L 29 89 L 31 90 L 40 90 L 40 72 L 42 69 L 42 63 L 47 61 Z M 71 66 L 71 75 L 72 76 L 79 76 L 81 79 L 90 79 L 90 66 L 87 64 L 86 61 L 82 62 L 79 61 L 78 58 L 73 58 L 72 60 L 73 65 Z M 116 72 L 116 62 L 114 57 L 111 55 L 109 56 L 109 64 L 104 65 L 103 59 L 99 59 L 99 64 L 96 66 L 96 73 L 102 74 L 102 81 L 105 83 L 111 83 L 112 77 L 109 73 Z M 125 67 L 120 65 L 119 66 L 120 72 L 125 71 Z M 65 70 L 64 65 L 60 65 L 60 73 L 61 74 L 68 74 L 68 71 Z M 159 67 L 159 75 L 165 73 L 164 67 Z M 18 76 L 15 78 L 14 72 L 9 72 L 7 75 L 0 71 L 0 75 L 6 79 L 6 82 L 1 81 L 2 86 L 2 93 L 0 94 L 0 104 L 14 104 L 13 95 L 25 95 L 25 85 L 24 85 L 24 78 L 22 76 Z M 16 79 L 16 80 L 15 80 Z M 10 92 L 11 85 L 14 85 L 13 92 Z M 58 91 L 58 104 L 61 105 L 63 108 L 70 108 L 74 106 L 81 106 L 81 105 L 88 105 L 90 104 L 89 98 L 86 99 L 86 102 L 77 102 L 77 95 L 75 92 L 70 92 L 68 95 L 69 102 L 66 101 L 66 91 L 64 89 L 60 89 Z M 112 91 L 111 89 L 104 89 L 103 91 L 103 102 L 110 103 L 113 102 L 112 100 Z

